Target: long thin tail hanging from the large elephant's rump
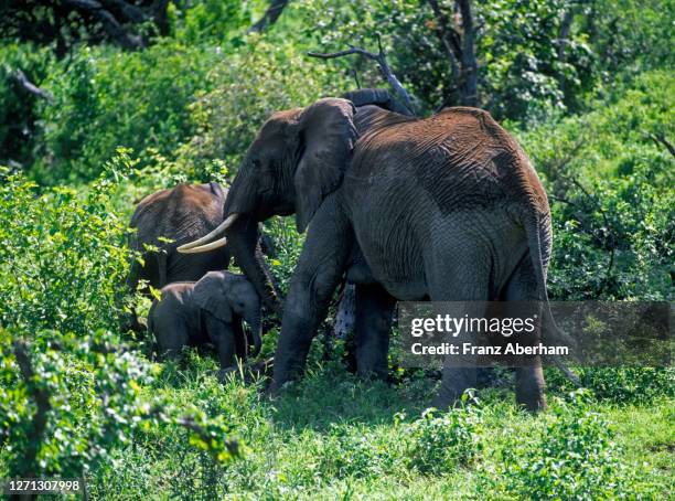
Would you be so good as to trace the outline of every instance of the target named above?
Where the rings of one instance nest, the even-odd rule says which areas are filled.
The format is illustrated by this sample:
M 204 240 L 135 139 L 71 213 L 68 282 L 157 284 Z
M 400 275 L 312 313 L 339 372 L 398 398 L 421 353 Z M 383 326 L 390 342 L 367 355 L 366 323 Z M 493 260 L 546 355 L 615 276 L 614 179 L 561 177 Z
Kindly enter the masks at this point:
M 576 344 L 575 340 L 565 331 L 562 331 L 556 320 L 554 319 L 553 312 L 550 311 L 550 303 L 548 302 L 548 292 L 546 291 L 546 266 L 549 259 L 550 248 L 550 213 L 540 213 L 537 210 L 528 211 L 526 217 L 525 232 L 527 234 L 527 246 L 529 248 L 529 256 L 532 258 L 532 266 L 534 268 L 535 277 L 537 280 L 537 289 L 539 292 L 539 300 L 543 302 L 542 309 L 542 327 L 543 332 L 551 332 L 551 338 L 556 341 L 562 341 L 568 347 Z M 576 386 L 581 386 L 581 383 L 577 375 L 569 370 L 562 361 L 555 356 L 553 358 L 554 364 L 567 376 L 569 381 Z

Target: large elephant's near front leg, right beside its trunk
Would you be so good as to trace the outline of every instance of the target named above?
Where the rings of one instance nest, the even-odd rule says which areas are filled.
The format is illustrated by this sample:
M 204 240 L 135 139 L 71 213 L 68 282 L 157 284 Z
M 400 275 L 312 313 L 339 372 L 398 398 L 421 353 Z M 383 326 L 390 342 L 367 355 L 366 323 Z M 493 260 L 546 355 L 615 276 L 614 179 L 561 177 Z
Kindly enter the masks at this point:
M 286 298 L 272 394 L 304 369 L 311 341 L 344 274 L 352 243 L 351 224 L 330 195 L 310 224 Z

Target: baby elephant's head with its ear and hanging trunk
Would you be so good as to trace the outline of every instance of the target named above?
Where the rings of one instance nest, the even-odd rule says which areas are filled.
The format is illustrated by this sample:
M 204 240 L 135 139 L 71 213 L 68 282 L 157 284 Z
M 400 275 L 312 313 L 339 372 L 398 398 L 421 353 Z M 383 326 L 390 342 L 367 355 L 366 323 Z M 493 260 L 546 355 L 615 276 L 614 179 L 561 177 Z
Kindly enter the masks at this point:
M 250 281 L 243 275 L 228 271 L 208 271 L 193 289 L 196 306 L 225 323 L 237 324 L 246 321 L 253 338 L 253 352 L 256 356 L 262 344 L 260 322 L 260 299 Z M 246 344 L 246 343 L 245 343 Z

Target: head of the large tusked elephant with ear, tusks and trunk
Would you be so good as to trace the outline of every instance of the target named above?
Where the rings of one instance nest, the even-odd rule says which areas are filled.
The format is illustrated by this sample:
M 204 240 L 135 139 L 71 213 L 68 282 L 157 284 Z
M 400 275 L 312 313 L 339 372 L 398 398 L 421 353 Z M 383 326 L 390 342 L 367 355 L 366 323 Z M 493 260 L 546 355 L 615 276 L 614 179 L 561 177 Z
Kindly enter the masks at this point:
M 179 250 L 208 250 L 227 241 L 266 305 L 276 303 L 255 252 L 257 222 L 296 213 L 298 231 L 307 228 L 322 200 L 342 182 L 357 139 L 354 114 L 354 105 L 341 98 L 274 114 L 239 167 L 225 202 L 224 223 Z M 223 233 L 225 237 L 212 242 Z

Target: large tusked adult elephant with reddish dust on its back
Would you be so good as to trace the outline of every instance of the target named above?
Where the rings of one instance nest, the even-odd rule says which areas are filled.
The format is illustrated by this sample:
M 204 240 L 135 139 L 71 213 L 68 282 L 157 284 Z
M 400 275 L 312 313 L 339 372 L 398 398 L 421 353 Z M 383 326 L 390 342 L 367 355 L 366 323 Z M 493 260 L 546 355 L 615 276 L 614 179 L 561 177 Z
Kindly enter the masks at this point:
M 325 98 L 276 113 L 239 168 L 225 223 L 186 247 L 194 252 L 225 232 L 205 246 L 212 248 L 236 225 L 293 212 L 299 231 L 309 231 L 285 305 L 272 391 L 304 366 L 345 273 L 384 288 L 364 296 L 378 311 L 372 321 L 381 323 L 364 333 L 376 339 L 362 342 L 371 366 L 386 364 L 385 312 L 394 298 L 546 301 L 546 193 L 518 145 L 480 109 L 419 119 Z M 354 248 L 361 266 L 353 266 Z M 469 305 L 472 316 L 483 313 L 478 302 Z M 516 370 L 516 397 L 534 411 L 546 403 L 540 360 L 533 362 Z M 436 405 L 459 398 L 475 375 L 447 364 Z

